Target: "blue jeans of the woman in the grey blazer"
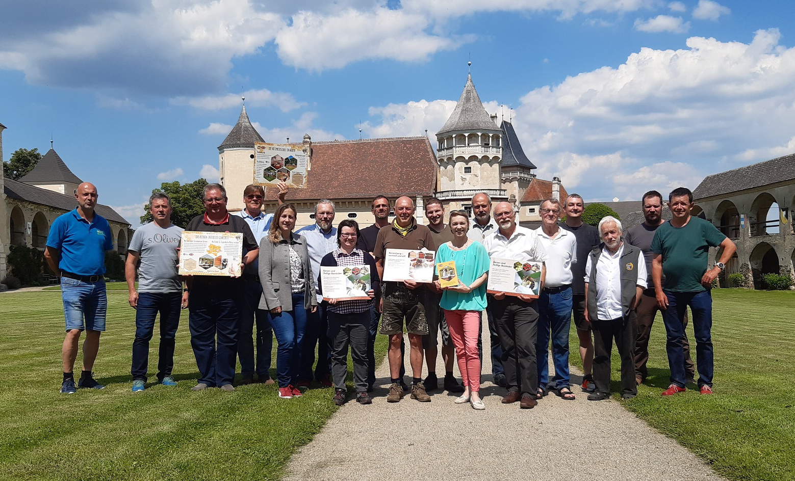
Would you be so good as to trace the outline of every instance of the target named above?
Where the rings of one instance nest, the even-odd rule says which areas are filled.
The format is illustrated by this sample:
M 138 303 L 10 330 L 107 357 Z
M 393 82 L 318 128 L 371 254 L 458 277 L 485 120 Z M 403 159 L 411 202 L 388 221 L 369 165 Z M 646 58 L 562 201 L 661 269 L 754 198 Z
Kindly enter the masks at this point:
M 293 386 L 298 382 L 301 367 L 301 348 L 304 347 L 307 312 L 304 293 L 293 294 L 293 310 L 270 314 L 270 326 L 276 336 L 276 382 L 279 387 Z

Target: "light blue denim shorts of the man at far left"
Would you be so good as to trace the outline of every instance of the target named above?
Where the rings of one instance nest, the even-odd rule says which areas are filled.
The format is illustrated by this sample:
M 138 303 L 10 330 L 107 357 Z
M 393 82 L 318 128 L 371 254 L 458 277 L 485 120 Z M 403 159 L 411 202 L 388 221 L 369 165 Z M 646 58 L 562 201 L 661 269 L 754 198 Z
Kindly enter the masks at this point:
M 95 283 L 69 277 L 60 278 L 60 297 L 64 302 L 66 330 L 104 331 L 107 313 L 105 279 Z

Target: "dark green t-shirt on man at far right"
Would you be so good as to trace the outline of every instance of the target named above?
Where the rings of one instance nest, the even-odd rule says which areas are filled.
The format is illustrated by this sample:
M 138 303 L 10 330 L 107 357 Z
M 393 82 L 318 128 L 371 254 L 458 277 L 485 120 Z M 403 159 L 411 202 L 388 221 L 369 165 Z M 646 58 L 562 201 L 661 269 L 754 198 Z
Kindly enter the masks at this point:
M 726 239 L 711 222 L 690 217 L 683 227 L 665 222 L 657 228 L 651 241 L 651 252 L 662 254 L 662 284 L 665 291 L 701 292 L 701 276 L 707 271 L 710 247 Z

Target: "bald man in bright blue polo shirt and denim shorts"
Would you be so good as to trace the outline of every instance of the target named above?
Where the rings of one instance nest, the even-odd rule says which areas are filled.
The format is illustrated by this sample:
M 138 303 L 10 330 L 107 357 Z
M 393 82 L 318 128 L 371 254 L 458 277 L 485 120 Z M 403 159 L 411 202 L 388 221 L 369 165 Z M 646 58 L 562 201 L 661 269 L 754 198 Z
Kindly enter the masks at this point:
M 81 183 L 75 191 L 76 209 L 57 217 L 47 237 L 45 259 L 52 272 L 60 273 L 66 318 L 61 350 L 64 380 L 60 387 L 64 394 L 76 391 L 73 371 L 83 331 L 83 373 L 78 386 L 104 388 L 95 381 L 91 369 L 99 351 L 99 334 L 105 330 L 105 251 L 113 249 L 113 234 L 107 220 L 94 212 L 97 197 L 93 184 Z

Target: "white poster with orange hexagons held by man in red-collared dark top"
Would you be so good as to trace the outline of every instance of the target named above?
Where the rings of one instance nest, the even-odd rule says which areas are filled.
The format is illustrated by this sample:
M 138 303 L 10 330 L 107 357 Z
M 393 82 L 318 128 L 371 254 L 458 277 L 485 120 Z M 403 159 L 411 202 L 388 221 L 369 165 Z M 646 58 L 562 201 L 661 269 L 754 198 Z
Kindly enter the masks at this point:
M 182 231 L 180 275 L 239 276 L 242 253 L 242 233 Z

